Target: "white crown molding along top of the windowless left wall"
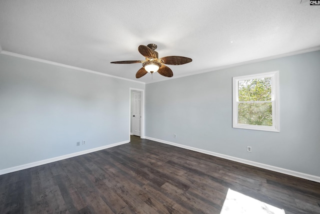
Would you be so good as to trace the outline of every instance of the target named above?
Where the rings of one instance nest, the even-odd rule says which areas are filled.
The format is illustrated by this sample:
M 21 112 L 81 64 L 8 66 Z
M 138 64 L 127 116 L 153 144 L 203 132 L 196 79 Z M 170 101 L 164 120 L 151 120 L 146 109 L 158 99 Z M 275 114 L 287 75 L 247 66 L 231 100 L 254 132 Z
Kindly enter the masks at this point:
M 80 71 L 84 71 L 84 72 L 88 72 L 88 73 L 94 73 L 94 74 L 98 74 L 98 75 L 102 75 L 102 76 L 108 76 L 108 77 L 112 77 L 112 78 L 117 78 L 117 79 L 122 79 L 122 80 L 126 80 L 126 81 L 132 81 L 132 82 L 145 84 L 145 82 L 142 82 L 142 81 L 137 81 L 137 80 L 128 79 L 128 78 L 124 78 L 124 77 L 114 76 L 114 75 L 110 75 L 110 74 L 107 74 L 107 73 L 101 73 L 101 72 L 98 72 L 98 71 L 89 70 L 89 69 L 85 69 L 85 68 L 81 68 L 81 67 L 75 67 L 75 66 L 62 64 L 62 63 L 58 63 L 58 62 L 54 62 L 54 61 L 49 61 L 49 60 L 45 60 L 45 59 L 40 59 L 40 58 L 35 58 L 35 57 L 27 56 L 27 55 L 22 55 L 22 54 L 19 54 L 19 53 L 13 53 L 13 52 L 5 51 L 5 50 L 1 51 L 1 50 L 2 49 L 0 47 L 0 53 L 4 54 L 4 55 L 10 55 L 10 56 L 18 57 L 18 58 L 28 59 L 28 60 L 32 60 L 32 61 L 38 61 L 38 62 L 42 62 L 42 63 L 46 63 L 46 64 L 52 64 L 52 65 L 56 65 L 56 66 L 60 66 L 60 67 L 66 67 L 66 68 L 70 68 L 70 69 L 73 69 L 73 70 L 80 70 Z

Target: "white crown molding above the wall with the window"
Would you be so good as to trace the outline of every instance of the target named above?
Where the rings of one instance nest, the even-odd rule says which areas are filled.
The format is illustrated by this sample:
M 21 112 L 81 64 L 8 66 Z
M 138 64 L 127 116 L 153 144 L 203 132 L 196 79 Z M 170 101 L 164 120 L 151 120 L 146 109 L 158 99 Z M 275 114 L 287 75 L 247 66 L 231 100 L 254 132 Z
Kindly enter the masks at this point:
M 268 57 L 264 57 L 264 58 L 252 59 L 252 60 L 249 60 L 249 61 L 243 61 L 243 62 L 234 63 L 234 64 L 228 64 L 228 65 L 223 65 L 223 66 L 218 66 L 218 67 L 211 67 L 211 68 L 208 68 L 208 69 L 199 70 L 199 71 L 196 71 L 196 72 L 193 72 L 193 73 L 189 73 L 189 74 L 182 74 L 182 75 L 178 75 L 178 76 L 172 76 L 170 79 L 180 78 L 180 77 L 184 77 L 184 76 L 191 76 L 191 75 L 196 75 L 196 74 L 200 74 L 200 73 L 206 73 L 206 72 L 215 71 L 215 70 L 222 70 L 222 69 L 226 69 L 226 68 L 230 68 L 230 67 L 236 67 L 236 66 L 241 66 L 241 65 L 245 65 L 245 64 L 252 64 L 252 63 L 256 63 L 256 62 L 267 61 L 267 60 L 271 60 L 271 59 L 282 58 L 282 57 L 286 57 L 286 56 L 297 55 L 297 54 L 302 54 L 302 53 L 307 53 L 307 52 L 313 52 L 313 51 L 317 51 L 317 50 L 320 50 L 320 46 L 311 47 L 311 48 L 302 49 L 302 50 L 297 50 L 297 51 L 293 51 L 293 52 L 281 53 L 281 54 L 278 54 L 278 55 L 268 56 Z M 150 81 L 150 82 L 148 82 L 146 84 L 150 84 L 150 83 L 154 83 L 154 82 L 158 82 L 158 81 L 167 81 L 167 80 L 170 80 L 170 79 L 154 80 L 154 81 Z

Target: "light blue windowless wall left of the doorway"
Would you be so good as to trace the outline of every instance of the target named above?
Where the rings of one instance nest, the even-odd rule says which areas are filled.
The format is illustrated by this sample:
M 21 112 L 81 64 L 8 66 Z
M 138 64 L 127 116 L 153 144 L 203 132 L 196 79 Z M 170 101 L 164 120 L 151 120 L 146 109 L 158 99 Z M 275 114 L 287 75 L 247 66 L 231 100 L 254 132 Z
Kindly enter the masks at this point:
M 129 88 L 144 86 L 0 54 L 0 169 L 129 140 Z

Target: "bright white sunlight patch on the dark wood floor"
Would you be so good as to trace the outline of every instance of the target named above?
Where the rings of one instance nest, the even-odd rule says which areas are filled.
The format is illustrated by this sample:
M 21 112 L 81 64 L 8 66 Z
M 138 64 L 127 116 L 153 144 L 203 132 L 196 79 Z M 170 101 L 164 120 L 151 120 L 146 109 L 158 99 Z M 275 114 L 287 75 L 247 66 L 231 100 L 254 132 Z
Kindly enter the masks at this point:
M 285 214 L 283 209 L 228 189 L 220 214 Z

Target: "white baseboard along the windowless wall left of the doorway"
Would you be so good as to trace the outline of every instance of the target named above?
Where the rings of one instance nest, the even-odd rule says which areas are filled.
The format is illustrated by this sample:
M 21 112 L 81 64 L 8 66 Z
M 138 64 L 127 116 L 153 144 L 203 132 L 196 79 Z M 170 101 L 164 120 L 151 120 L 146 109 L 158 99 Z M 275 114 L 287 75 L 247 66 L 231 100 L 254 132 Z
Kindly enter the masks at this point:
M 100 147 L 91 148 L 91 149 L 87 149 L 87 150 L 79 151 L 79 152 L 74 152 L 74 153 L 71 153 L 71 154 L 65 154 L 65 155 L 58 156 L 58 157 L 52 157 L 52 158 L 49 158 L 49 159 L 30 162 L 30 163 L 26 163 L 26 164 L 23 164 L 23 165 L 13 166 L 13 167 L 10 167 L 10 168 L 4 168 L 4 169 L 0 170 L 0 175 L 1 174 L 6 174 L 6 173 L 10 173 L 10 172 L 13 172 L 13 171 L 26 169 L 26 168 L 31 168 L 31 167 L 38 166 L 38 165 L 43 165 L 43 164 L 50 163 L 50 162 L 55 162 L 55 161 L 66 159 L 66 158 L 70 158 L 70 157 L 79 156 L 79 155 L 82 155 L 82 154 L 91 153 L 91 152 L 94 152 L 94 151 L 98 151 L 98 150 L 114 147 L 114 146 L 117 146 L 117 145 L 122 145 L 122 144 L 125 144 L 125 143 L 128 143 L 128 142 L 130 142 L 130 140 L 125 140 L 125 141 L 122 141 L 122 142 L 116 142 L 116 143 L 109 144 L 109 145 L 103 145 L 103 146 L 100 146 Z

